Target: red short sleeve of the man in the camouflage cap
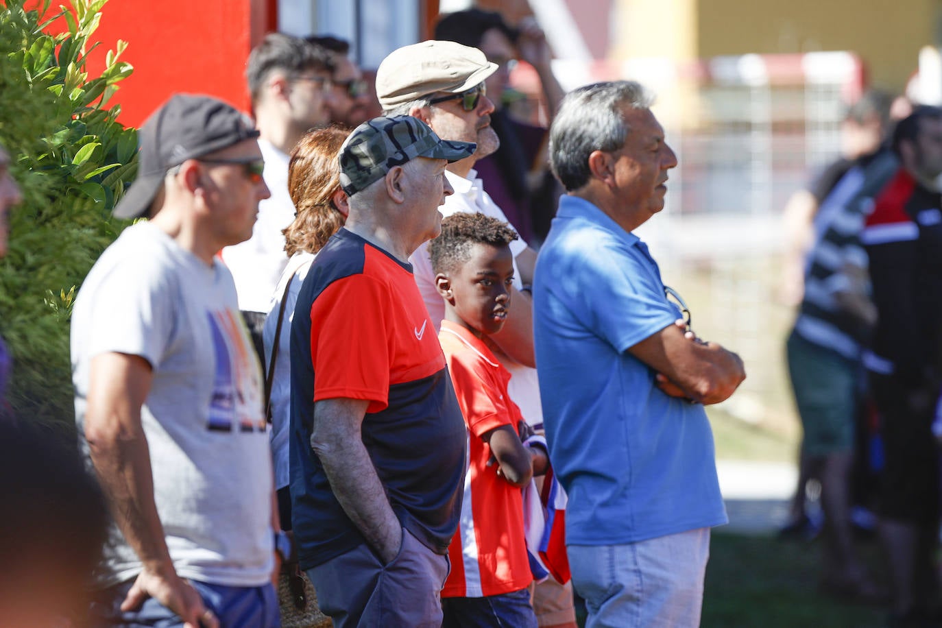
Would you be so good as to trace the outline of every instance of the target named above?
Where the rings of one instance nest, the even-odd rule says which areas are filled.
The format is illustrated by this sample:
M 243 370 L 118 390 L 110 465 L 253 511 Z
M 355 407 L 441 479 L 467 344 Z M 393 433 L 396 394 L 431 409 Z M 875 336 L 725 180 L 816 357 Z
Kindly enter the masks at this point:
M 370 402 L 367 412 L 389 402 L 392 330 L 387 290 L 364 275 L 331 283 L 311 305 L 314 400 L 349 398 Z

